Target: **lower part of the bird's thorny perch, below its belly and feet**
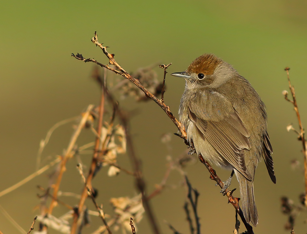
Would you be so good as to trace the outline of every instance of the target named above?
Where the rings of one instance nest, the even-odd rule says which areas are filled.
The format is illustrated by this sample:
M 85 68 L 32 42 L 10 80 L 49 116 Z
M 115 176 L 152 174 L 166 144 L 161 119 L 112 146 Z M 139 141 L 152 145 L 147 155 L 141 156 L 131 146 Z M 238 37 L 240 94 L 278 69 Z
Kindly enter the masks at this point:
M 198 155 L 198 159 L 200 160 L 200 162 L 202 162 L 208 169 L 208 171 L 210 172 L 210 179 L 215 180 L 216 183 L 220 186 L 220 188 L 222 189 L 224 187 L 224 183 L 223 181 L 221 181 L 220 177 L 218 177 L 218 175 L 216 174 L 216 171 L 212 168 L 212 166 L 203 158 L 203 156 L 201 156 L 201 154 Z M 228 197 L 228 203 L 231 203 L 233 205 L 233 207 L 235 208 L 236 212 L 239 213 L 239 216 L 243 222 L 243 224 L 246 227 L 246 230 L 249 234 L 253 234 L 253 227 L 247 223 L 244 215 L 243 215 L 243 211 L 241 210 L 240 206 L 239 206 L 239 199 L 237 197 L 233 197 L 232 193 L 235 191 L 235 189 L 233 189 L 232 191 L 227 190 L 226 191 L 226 196 Z

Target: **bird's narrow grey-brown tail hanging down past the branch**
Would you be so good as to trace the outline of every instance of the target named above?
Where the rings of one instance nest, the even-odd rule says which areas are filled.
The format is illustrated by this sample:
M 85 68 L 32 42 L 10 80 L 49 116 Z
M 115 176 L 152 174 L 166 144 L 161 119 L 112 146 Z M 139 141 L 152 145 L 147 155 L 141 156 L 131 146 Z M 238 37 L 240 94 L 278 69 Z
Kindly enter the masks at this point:
M 248 223 L 252 222 L 256 226 L 258 224 L 258 212 L 255 203 L 253 181 L 248 181 L 237 170 L 235 170 L 235 175 L 239 181 L 244 217 Z

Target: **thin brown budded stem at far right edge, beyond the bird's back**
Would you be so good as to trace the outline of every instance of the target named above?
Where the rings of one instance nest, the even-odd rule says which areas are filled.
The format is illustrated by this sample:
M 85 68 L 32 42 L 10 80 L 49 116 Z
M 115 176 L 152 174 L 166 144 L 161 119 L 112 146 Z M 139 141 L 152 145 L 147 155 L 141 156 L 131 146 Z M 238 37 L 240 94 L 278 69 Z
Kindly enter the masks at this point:
M 296 101 L 296 96 L 295 96 L 295 90 L 294 87 L 291 85 L 290 82 L 290 76 L 289 76 L 289 70 L 290 68 L 286 67 L 285 68 L 286 72 L 287 72 L 287 78 L 288 78 L 288 82 L 289 82 L 289 88 L 291 91 L 291 95 L 292 95 L 292 100 L 288 99 L 287 93 L 284 94 L 285 99 L 289 102 L 291 102 L 293 104 L 294 107 L 294 111 L 296 112 L 297 115 L 297 120 L 298 120 L 298 126 L 300 128 L 299 131 L 299 140 L 302 141 L 302 146 L 303 146 L 303 154 L 304 154 L 304 175 L 305 175 L 305 206 L 307 207 L 307 142 L 306 142 L 306 138 L 305 138 L 305 131 L 301 122 L 301 117 L 300 117 L 300 113 L 298 111 L 298 106 L 297 106 L 297 101 Z

